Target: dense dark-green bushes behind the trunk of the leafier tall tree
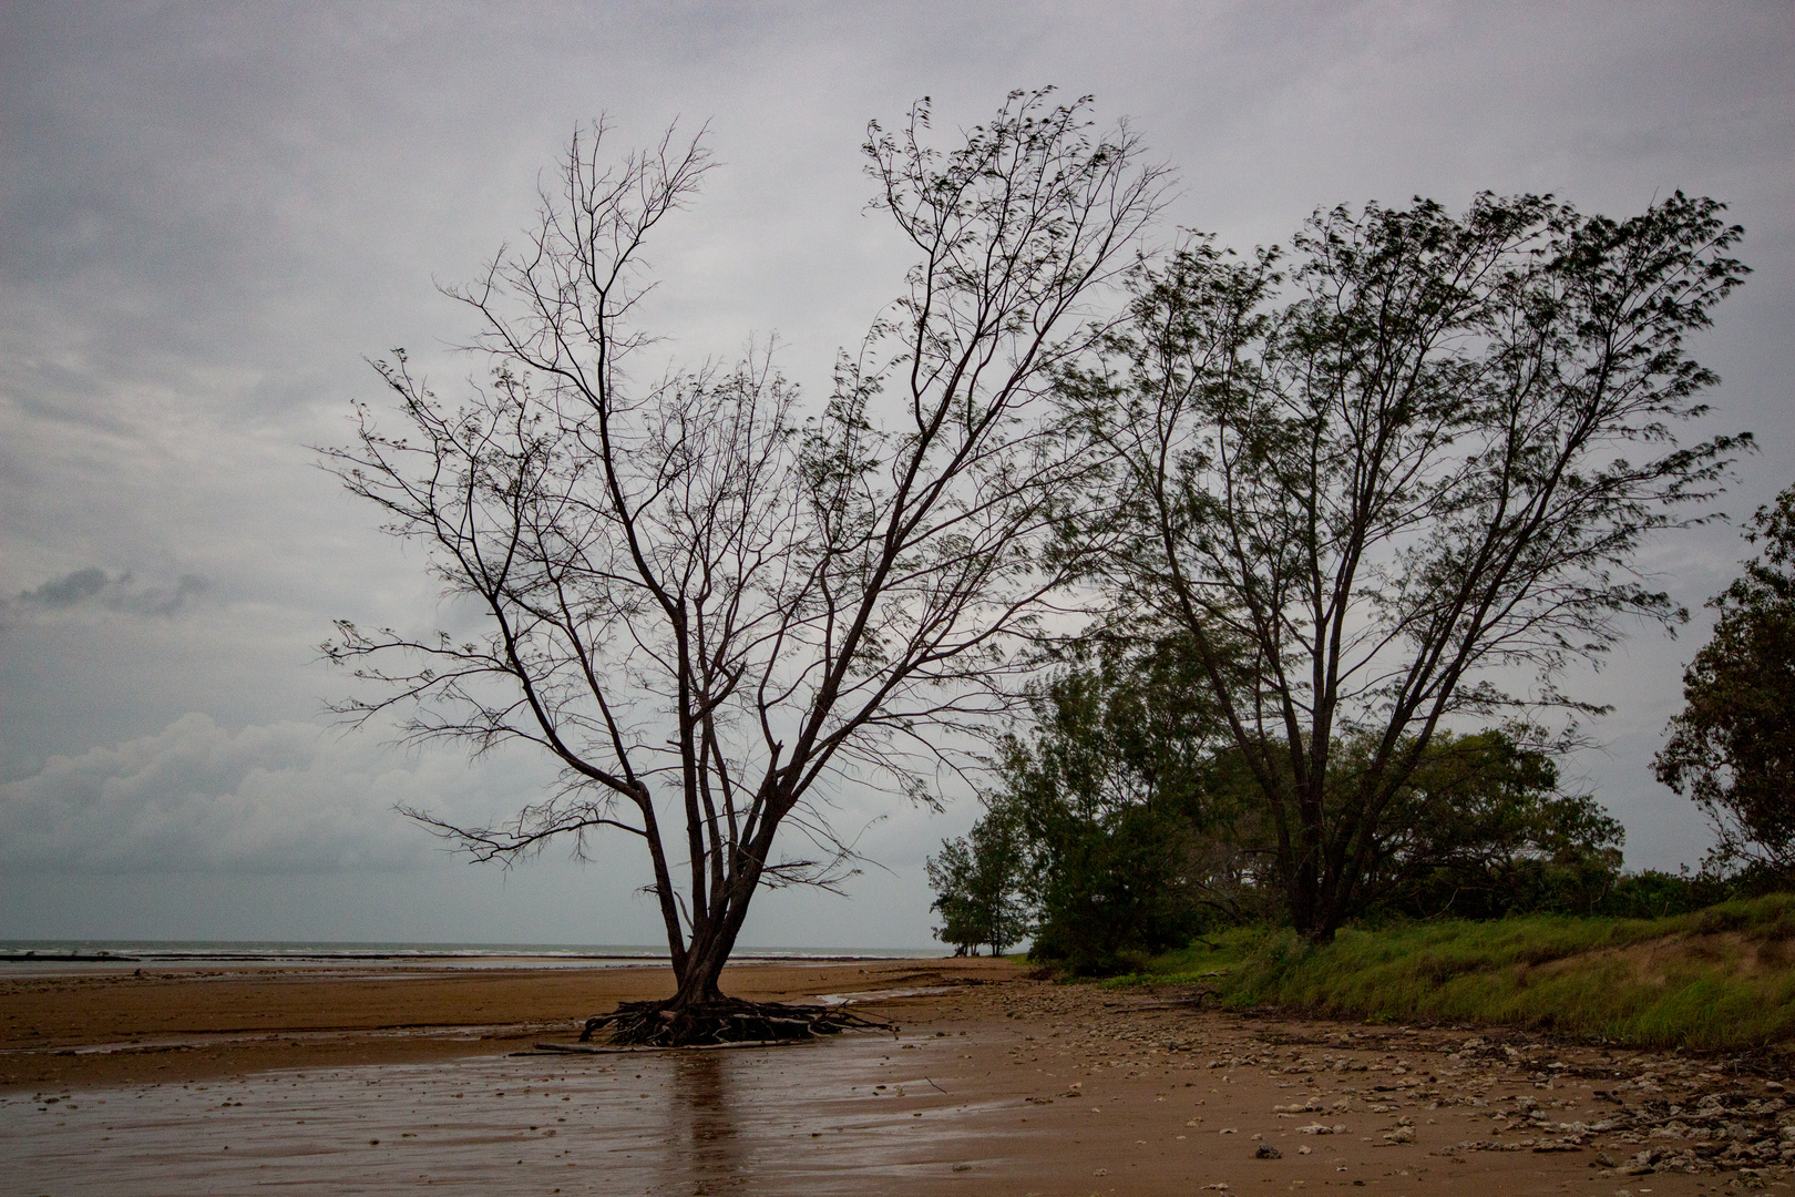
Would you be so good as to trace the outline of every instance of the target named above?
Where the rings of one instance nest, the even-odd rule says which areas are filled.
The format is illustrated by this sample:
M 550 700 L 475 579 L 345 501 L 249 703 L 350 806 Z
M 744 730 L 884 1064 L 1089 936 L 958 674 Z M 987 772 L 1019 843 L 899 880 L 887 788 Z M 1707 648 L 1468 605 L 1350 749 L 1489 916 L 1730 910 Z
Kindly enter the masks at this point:
M 993 942 L 982 928 L 1014 917 L 1032 922 L 1034 958 L 1090 974 L 1199 930 L 1283 917 L 1274 833 L 1199 669 L 1188 637 L 1099 639 L 1034 695 L 1034 730 L 1005 741 L 1003 788 L 971 843 L 930 861 L 944 940 Z M 1368 917 L 1603 908 L 1621 826 L 1562 793 L 1549 750 L 1520 730 L 1434 736 L 1371 845 Z M 1350 790 L 1373 752 L 1346 745 L 1332 790 Z M 1018 908 L 1027 919 L 998 913 Z

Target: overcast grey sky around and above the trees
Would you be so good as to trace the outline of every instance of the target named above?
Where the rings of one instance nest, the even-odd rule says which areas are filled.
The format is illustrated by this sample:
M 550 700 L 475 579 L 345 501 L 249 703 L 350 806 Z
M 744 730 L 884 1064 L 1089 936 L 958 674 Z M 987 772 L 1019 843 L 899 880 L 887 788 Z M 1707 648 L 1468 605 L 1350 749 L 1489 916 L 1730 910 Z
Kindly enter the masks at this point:
M 1756 273 L 1694 350 L 1707 429 L 1763 447 L 1741 515 L 1795 481 L 1791 81 L 1786 0 L 0 4 L 0 939 L 655 940 L 626 845 L 504 872 L 391 811 L 504 809 L 538 763 L 320 716 L 330 619 L 424 625 L 434 594 L 307 445 L 379 398 L 366 357 L 470 370 L 434 285 L 528 224 L 583 120 L 709 126 L 723 167 L 655 249 L 650 319 L 684 361 L 777 332 L 811 395 L 898 293 L 858 147 L 923 95 L 953 127 L 1011 88 L 1093 93 L 1178 167 L 1169 224 L 1242 248 L 1341 201 L 1720 197 Z M 1700 608 L 1743 553 L 1709 529 L 1646 567 Z M 1648 768 L 1702 639 L 1571 678 L 1616 707 L 1572 773 L 1633 865 L 1705 847 Z M 928 942 L 921 861 L 971 804 L 840 806 L 885 869 L 763 896 L 745 942 Z

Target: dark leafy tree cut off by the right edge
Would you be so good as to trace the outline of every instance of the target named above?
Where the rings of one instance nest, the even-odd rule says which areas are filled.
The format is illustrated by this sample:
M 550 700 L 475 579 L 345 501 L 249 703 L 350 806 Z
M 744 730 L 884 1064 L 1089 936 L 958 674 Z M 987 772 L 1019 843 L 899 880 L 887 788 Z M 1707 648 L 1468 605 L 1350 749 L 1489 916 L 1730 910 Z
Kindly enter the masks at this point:
M 1659 781 L 1720 833 L 1723 861 L 1795 872 L 1795 486 L 1745 535 L 1763 553 L 1709 599 L 1714 635 L 1684 671 Z

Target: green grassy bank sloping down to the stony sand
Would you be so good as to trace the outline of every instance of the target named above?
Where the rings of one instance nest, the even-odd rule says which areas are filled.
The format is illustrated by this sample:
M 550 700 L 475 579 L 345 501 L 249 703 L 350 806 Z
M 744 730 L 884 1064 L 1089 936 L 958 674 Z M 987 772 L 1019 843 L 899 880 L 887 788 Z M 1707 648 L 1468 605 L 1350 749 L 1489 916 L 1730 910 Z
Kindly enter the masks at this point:
M 1325 948 L 1244 928 L 1118 983 L 1195 982 L 1230 1009 L 1502 1023 L 1639 1046 L 1795 1050 L 1795 896 L 1669 919 L 1519 917 L 1343 930 Z

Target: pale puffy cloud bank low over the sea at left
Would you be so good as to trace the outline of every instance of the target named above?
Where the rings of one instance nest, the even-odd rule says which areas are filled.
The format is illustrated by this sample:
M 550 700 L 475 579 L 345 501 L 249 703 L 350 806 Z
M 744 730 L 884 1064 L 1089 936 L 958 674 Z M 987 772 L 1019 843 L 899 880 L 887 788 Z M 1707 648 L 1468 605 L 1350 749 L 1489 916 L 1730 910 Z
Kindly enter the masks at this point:
M 404 761 L 373 736 L 185 714 L 156 736 L 56 756 L 0 784 L 0 865 L 75 872 L 406 869 L 436 842 L 393 804 L 467 806 L 483 773 Z

